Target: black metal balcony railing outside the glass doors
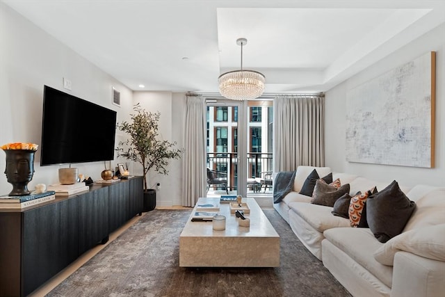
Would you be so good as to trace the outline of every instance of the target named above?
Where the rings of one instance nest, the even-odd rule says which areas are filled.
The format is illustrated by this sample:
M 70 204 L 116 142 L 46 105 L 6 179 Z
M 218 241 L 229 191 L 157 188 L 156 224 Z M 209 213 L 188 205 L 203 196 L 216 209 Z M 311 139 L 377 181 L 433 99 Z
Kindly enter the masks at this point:
M 266 172 L 272 172 L 272 156 L 271 152 L 248 152 L 247 180 L 250 181 L 257 177 L 264 178 Z M 238 184 L 238 153 L 209 152 L 207 153 L 207 167 L 227 173 L 227 188 L 236 190 Z

